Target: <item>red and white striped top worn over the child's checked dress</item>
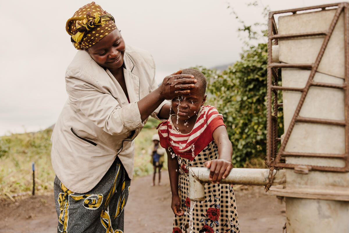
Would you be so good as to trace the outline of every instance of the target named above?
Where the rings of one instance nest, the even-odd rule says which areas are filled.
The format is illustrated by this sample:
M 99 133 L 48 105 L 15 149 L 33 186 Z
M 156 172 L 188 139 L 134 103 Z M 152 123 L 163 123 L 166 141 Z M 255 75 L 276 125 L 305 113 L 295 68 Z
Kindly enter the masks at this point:
M 160 145 L 163 148 L 171 147 L 175 154 L 193 161 L 195 156 L 213 140 L 213 132 L 221 125 L 224 125 L 222 114 L 210 105 L 200 108 L 194 127 L 187 134 L 177 131 L 170 116 L 157 127 Z

